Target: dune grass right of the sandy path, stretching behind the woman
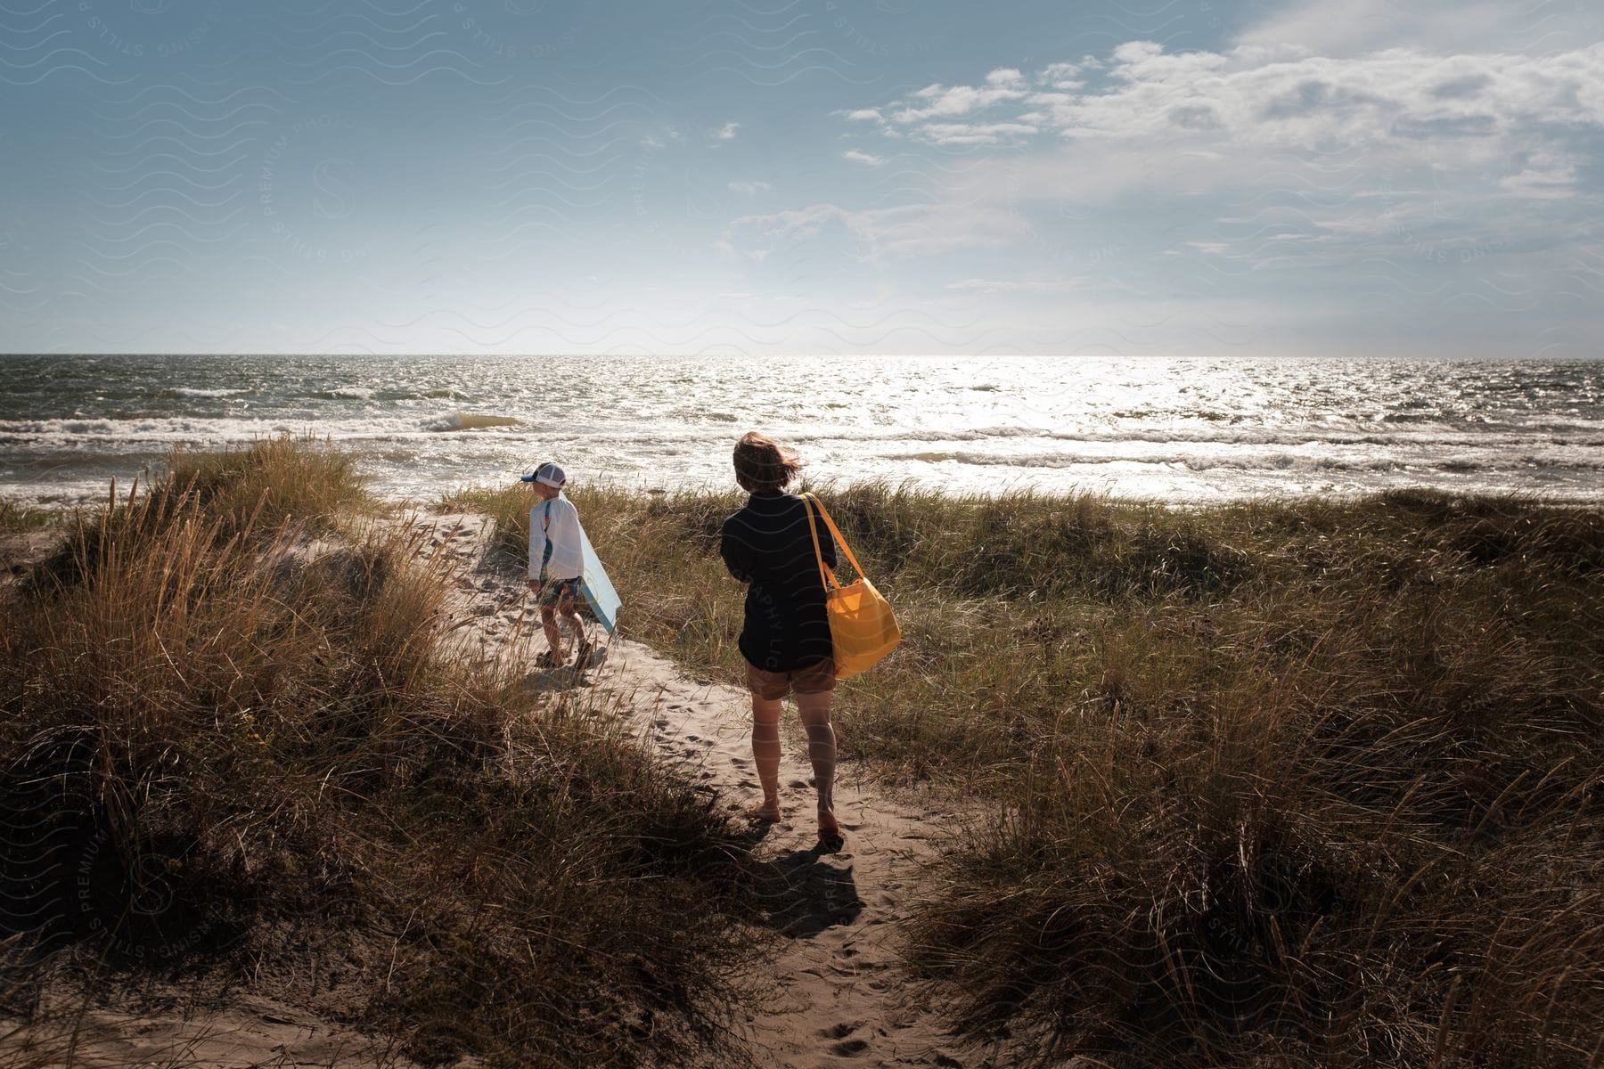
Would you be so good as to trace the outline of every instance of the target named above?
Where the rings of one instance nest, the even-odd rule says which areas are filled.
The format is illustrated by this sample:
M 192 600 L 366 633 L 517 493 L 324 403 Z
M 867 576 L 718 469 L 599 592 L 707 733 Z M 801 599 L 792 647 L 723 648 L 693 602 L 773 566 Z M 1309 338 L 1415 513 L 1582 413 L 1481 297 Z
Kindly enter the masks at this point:
M 571 497 L 627 633 L 738 678 L 741 497 Z M 824 497 L 905 631 L 837 692 L 844 752 L 998 813 L 908 950 L 962 1031 L 1039 1064 L 1598 1064 L 1604 514 Z M 464 502 L 523 553 L 525 489 Z

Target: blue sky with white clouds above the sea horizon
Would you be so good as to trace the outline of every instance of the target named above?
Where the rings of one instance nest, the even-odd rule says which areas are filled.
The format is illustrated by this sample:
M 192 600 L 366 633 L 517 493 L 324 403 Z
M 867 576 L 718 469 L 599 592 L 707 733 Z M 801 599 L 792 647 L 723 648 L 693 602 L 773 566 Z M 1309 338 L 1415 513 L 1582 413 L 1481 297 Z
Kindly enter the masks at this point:
M 0 0 L 0 351 L 1599 337 L 1596 0 Z

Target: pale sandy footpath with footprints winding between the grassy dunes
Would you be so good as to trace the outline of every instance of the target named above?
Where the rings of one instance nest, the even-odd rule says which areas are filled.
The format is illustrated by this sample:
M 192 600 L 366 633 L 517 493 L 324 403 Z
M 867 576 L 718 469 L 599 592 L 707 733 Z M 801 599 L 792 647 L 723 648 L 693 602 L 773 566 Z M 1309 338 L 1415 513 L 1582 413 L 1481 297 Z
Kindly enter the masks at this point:
M 533 665 L 545 638 L 523 596 L 516 563 L 484 556 L 488 521 L 451 514 L 420 521 L 427 547 L 446 547 L 460 567 L 451 607 L 467 649 Z M 592 628 L 595 630 L 595 628 Z M 531 675 L 534 686 L 585 688 L 618 699 L 634 729 L 674 764 L 720 790 L 731 809 L 762 800 L 751 752 L 746 691 L 698 683 L 648 647 L 618 639 L 581 681 L 571 668 Z M 788 710 L 796 726 L 794 708 Z M 897 942 L 921 864 L 959 819 L 950 808 L 893 800 L 853 766 L 837 774 L 836 811 L 847 832 L 839 854 L 815 849 L 812 769 L 805 742 L 786 740 L 780 768 L 786 819 L 755 853 L 783 877 L 773 920 L 788 939 L 770 965 L 773 995 L 749 1019 L 759 1064 L 978 1066 L 942 1023 L 901 995 Z

